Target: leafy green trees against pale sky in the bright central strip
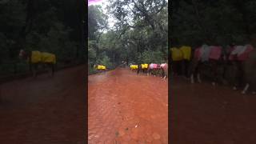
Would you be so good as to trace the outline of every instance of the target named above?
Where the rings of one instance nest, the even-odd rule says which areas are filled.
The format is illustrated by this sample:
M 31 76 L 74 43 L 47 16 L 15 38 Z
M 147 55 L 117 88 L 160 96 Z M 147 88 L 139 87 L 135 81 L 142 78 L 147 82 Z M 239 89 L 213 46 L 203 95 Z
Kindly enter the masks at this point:
M 167 61 L 168 4 L 166 0 L 114 0 L 108 11 L 116 22 L 107 25 L 101 6 L 89 6 L 88 62 L 110 68 L 120 62 Z

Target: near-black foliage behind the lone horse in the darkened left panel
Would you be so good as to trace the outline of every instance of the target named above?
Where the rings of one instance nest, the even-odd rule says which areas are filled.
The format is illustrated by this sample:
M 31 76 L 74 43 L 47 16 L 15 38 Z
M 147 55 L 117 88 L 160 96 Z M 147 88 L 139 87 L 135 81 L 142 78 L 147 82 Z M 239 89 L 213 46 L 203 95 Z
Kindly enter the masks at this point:
M 79 0 L 5 0 L 0 2 L 0 72 L 28 70 L 20 49 L 54 53 L 58 64 L 84 62 L 82 32 L 85 2 Z

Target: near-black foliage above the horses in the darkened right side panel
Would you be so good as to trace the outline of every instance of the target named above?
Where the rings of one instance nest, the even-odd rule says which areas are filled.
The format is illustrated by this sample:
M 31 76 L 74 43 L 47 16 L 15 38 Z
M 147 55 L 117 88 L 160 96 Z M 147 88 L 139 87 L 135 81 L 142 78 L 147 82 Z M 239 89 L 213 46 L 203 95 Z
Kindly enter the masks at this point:
M 170 14 L 173 46 L 255 46 L 254 0 L 174 0 Z

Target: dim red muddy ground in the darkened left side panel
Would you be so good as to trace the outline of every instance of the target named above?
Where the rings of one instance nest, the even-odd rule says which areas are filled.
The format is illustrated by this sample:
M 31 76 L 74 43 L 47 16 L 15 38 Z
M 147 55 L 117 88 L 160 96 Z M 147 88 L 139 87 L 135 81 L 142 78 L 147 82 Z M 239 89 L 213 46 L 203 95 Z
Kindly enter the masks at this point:
M 86 143 L 85 66 L 0 86 L 0 143 Z

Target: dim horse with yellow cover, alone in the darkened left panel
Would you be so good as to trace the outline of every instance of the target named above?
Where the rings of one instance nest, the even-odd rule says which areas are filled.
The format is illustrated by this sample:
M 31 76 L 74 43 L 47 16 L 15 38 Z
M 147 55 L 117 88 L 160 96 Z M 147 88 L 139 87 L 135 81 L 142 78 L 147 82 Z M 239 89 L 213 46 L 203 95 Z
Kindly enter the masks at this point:
M 50 76 L 54 76 L 54 67 L 56 64 L 55 54 L 40 52 L 38 50 L 20 50 L 19 58 L 26 59 L 29 62 L 30 70 L 33 72 L 33 77 L 37 77 L 38 65 L 47 66 L 49 68 Z

